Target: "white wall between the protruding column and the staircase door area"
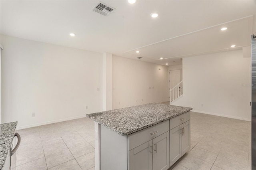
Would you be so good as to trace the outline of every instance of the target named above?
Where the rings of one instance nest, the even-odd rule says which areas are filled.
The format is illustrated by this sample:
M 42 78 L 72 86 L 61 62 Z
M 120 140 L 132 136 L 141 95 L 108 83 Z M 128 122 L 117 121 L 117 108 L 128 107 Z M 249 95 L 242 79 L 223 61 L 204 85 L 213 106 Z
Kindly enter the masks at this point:
M 112 58 L 113 109 L 168 101 L 168 66 Z

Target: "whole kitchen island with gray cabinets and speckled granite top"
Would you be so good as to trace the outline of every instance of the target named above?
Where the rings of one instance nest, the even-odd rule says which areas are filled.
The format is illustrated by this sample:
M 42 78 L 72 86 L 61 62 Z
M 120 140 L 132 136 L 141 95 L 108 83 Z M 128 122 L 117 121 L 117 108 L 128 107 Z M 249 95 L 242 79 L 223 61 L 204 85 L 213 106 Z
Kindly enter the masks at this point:
M 95 122 L 95 168 L 167 170 L 190 148 L 190 110 L 150 103 L 86 115 Z

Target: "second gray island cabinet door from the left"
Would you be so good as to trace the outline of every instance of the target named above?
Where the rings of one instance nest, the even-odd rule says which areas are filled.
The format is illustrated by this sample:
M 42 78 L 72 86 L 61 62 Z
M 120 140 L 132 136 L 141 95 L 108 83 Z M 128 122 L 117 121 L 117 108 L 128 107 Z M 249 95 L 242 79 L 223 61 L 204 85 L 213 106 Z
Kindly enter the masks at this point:
M 167 170 L 169 159 L 169 132 L 153 139 L 153 170 Z

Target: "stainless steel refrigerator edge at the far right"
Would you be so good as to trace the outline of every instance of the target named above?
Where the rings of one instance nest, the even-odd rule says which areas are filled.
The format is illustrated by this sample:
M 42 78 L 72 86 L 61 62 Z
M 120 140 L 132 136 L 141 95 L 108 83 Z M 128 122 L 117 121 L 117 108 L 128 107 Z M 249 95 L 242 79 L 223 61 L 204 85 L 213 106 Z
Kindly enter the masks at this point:
M 256 170 L 256 36 L 252 34 L 252 170 Z

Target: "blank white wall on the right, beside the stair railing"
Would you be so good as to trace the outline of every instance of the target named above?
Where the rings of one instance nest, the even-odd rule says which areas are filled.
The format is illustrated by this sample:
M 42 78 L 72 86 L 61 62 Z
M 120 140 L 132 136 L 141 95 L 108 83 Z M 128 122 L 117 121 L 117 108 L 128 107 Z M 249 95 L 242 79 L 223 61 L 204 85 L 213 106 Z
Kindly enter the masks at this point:
M 182 65 L 183 97 L 174 105 L 250 121 L 250 58 L 242 50 L 186 57 Z

